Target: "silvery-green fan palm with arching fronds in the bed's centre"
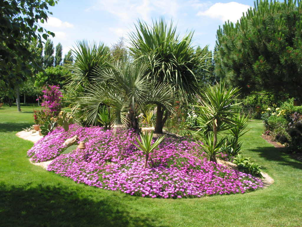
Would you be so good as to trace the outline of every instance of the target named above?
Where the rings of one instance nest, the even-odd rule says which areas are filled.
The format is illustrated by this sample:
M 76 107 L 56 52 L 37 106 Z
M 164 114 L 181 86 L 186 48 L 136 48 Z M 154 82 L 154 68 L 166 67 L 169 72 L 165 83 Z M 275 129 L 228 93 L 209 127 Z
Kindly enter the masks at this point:
M 128 59 L 117 61 L 110 68 L 95 72 L 95 83 L 79 97 L 78 104 L 84 105 L 84 115 L 89 123 L 95 123 L 101 104 L 112 107 L 116 124 L 126 124 L 140 132 L 138 111 L 146 104 L 159 104 L 173 111 L 173 95 L 165 86 L 158 86 L 148 80 L 147 66 L 142 62 Z

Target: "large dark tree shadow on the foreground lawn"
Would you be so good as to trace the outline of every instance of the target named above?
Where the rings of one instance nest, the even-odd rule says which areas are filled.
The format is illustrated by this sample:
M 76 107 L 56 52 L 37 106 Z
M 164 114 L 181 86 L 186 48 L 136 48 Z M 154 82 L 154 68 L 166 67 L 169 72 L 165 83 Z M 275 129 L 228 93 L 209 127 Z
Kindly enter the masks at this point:
M 0 226 L 155 226 L 153 217 L 133 217 L 107 198 L 81 198 L 62 186 L 27 188 L 0 183 Z

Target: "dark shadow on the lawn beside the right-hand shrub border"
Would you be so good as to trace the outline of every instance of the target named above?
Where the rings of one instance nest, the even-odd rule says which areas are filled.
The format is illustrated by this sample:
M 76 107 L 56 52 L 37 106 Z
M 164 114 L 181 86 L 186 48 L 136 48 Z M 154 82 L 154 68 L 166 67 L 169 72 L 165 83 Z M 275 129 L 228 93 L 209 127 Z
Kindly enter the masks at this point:
M 266 146 L 266 147 L 256 147 L 255 149 L 251 149 L 251 151 L 259 153 L 259 155 L 262 158 L 268 161 L 276 161 L 278 162 L 278 164 L 284 166 L 292 166 L 296 169 L 302 169 L 301 162 L 294 160 L 289 154 L 283 153 L 281 149 L 283 148 Z

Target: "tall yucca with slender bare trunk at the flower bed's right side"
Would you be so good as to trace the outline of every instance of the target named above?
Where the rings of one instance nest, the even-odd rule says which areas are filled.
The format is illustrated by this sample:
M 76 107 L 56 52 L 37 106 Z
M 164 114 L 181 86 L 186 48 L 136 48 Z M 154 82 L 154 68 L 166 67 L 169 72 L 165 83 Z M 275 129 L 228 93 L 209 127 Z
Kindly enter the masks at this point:
M 230 130 L 236 126 L 234 116 L 238 114 L 236 111 L 240 103 L 235 102 L 235 98 L 239 95 L 239 88 L 225 88 L 225 81 L 217 83 L 213 87 L 208 87 L 204 94 L 200 97 L 198 110 L 196 111 L 198 123 L 205 133 L 213 132 L 213 149 L 217 145 L 217 133 Z M 211 158 L 216 162 L 215 153 Z

